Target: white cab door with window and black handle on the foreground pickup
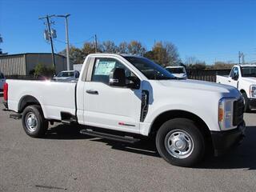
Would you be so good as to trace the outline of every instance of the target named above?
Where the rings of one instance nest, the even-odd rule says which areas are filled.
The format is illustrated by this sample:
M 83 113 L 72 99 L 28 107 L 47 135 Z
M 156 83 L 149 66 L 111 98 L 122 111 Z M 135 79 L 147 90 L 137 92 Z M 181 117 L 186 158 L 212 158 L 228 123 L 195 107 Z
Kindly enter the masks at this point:
M 118 58 L 94 58 L 90 79 L 84 82 L 84 122 L 90 126 L 138 133 L 141 86 L 136 89 L 110 86 L 109 76 L 114 68 L 125 70 L 127 84 L 130 77 L 138 78 Z

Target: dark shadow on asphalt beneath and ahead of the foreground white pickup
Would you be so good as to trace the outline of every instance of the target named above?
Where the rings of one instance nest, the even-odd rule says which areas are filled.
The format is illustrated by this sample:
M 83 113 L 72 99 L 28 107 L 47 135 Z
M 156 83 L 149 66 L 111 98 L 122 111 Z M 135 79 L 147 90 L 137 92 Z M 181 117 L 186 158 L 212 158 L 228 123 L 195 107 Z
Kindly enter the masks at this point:
M 153 140 L 142 139 L 140 142 L 130 144 L 115 142 L 105 138 L 92 138 L 79 133 L 82 126 L 58 125 L 51 128 L 45 139 L 90 139 L 91 142 L 102 142 L 111 146 L 113 150 L 122 150 L 135 154 L 159 157 Z M 206 157 L 195 168 L 198 169 L 246 169 L 256 170 L 256 126 L 246 127 L 246 138 L 241 146 L 230 150 L 222 157 Z

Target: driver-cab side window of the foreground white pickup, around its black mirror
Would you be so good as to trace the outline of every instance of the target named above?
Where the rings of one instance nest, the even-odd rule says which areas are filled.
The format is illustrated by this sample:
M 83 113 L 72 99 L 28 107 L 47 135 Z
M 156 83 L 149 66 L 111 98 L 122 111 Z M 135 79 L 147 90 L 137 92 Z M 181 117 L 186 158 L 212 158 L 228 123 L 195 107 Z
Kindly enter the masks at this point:
M 126 66 L 114 58 L 96 58 L 92 74 L 92 82 L 103 82 L 109 84 L 110 71 L 114 68 L 122 68 L 126 71 L 126 83 L 130 82 L 131 77 L 136 77 Z

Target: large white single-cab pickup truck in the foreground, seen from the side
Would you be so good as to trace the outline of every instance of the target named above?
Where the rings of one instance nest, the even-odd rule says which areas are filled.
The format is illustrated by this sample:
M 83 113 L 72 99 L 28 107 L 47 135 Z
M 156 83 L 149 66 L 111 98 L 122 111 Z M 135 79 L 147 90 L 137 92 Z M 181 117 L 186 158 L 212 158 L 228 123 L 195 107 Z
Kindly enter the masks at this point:
M 78 82 L 8 79 L 4 99 L 31 137 L 46 134 L 49 122 L 86 125 L 82 134 L 123 142 L 151 136 L 177 166 L 193 166 L 209 149 L 222 154 L 245 131 L 237 89 L 175 78 L 137 56 L 90 54 Z

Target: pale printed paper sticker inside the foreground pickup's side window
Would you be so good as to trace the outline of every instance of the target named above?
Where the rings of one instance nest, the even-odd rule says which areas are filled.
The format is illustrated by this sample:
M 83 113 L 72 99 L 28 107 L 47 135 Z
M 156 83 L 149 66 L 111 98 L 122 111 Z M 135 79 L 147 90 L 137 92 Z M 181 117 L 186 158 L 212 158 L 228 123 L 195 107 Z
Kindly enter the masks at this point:
M 95 63 L 95 72 L 96 75 L 109 75 L 110 71 L 114 69 L 115 62 L 103 62 L 99 59 Z

